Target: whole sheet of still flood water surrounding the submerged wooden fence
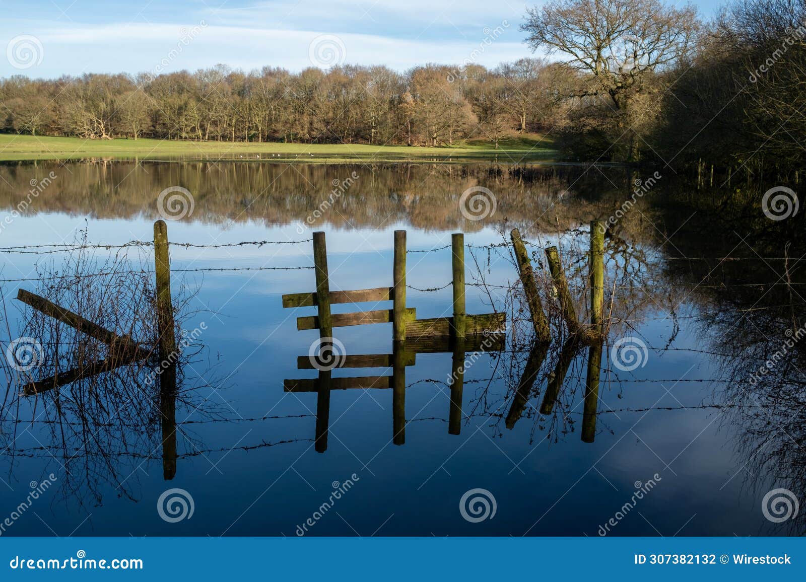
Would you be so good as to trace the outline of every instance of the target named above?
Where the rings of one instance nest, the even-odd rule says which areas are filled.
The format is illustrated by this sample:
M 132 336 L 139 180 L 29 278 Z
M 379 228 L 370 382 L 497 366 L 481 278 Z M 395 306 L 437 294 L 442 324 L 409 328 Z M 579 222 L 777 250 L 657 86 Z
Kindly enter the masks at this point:
M 800 513 L 775 522 L 764 509 L 776 488 L 806 498 L 802 216 L 771 221 L 753 202 L 766 188 L 738 179 L 728 186 L 726 177 L 700 189 L 659 177 L 633 196 L 647 177 L 571 164 L 0 165 L 0 204 L 11 216 L 0 234 L 4 352 L 31 329 L 18 289 L 58 304 L 60 293 L 68 301 L 84 285 L 101 285 L 93 297 L 117 306 L 114 313 L 142 309 L 131 285 L 115 280 L 104 289 L 110 277 L 71 278 L 65 247 L 31 246 L 84 236 L 93 245 L 148 243 L 160 192 L 171 186 L 192 194 L 193 210 L 168 221 L 168 238 L 197 245 L 171 247 L 177 317 L 193 345 L 170 402 L 142 381 L 151 372 L 125 367 L 94 383 L 20 396 L 29 380 L 52 375 L 75 340 L 41 339 L 48 365 L 25 374 L 4 362 L 0 522 L 15 517 L 2 534 L 802 533 Z M 474 186 L 496 198 L 494 214 L 480 220 L 459 209 Z M 554 340 L 534 355 L 509 231 L 519 228 L 530 243 L 544 281 L 542 248 L 559 247 L 585 321 L 588 223 L 630 199 L 605 240 L 610 325 L 600 369 L 589 365 L 595 347 L 562 349 L 567 332 L 550 284 L 543 302 Z M 447 246 L 451 233 L 463 232 L 467 313 L 503 312 L 507 322 L 500 350 L 467 353 L 459 400 L 451 345 L 409 349 L 403 435 L 394 429 L 401 401 L 383 382 L 326 398 L 286 389 L 286 380 L 318 379 L 315 369 L 297 368 L 318 330 L 297 330 L 297 317 L 315 307 L 282 305 L 284 294 L 315 289 L 313 231 L 326 232 L 334 291 L 393 285 L 401 229 L 406 305 L 418 319 L 451 315 Z M 84 275 L 112 264 L 150 285 L 153 247 L 84 253 Z M 391 308 L 373 301 L 333 311 Z M 137 329 L 132 336 L 142 341 Z M 347 355 L 393 360 L 391 323 L 337 327 L 334 337 Z M 591 370 L 598 401 L 585 398 Z M 393 372 L 400 370 L 381 365 L 332 376 Z M 326 446 L 316 442 L 323 416 Z M 166 430 L 176 431 L 168 446 Z M 45 480 L 52 484 L 20 511 Z M 193 500 L 192 515 L 176 522 L 158 510 L 173 488 Z M 466 495 L 474 489 L 486 491 Z M 479 495 L 487 509 L 460 509 L 463 496 Z

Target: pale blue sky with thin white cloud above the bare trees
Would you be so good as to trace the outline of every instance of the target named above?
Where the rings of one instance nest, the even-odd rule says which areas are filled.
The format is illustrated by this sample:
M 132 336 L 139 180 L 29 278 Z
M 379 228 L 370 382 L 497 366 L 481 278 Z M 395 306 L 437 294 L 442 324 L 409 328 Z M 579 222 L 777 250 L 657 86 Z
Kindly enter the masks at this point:
M 0 77 L 170 73 L 223 63 L 495 66 L 530 56 L 518 30 L 544 0 L 0 0 Z M 719 0 L 695 2 L 713 15 Z

